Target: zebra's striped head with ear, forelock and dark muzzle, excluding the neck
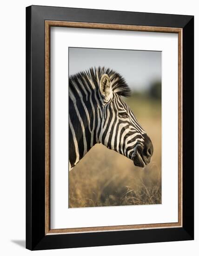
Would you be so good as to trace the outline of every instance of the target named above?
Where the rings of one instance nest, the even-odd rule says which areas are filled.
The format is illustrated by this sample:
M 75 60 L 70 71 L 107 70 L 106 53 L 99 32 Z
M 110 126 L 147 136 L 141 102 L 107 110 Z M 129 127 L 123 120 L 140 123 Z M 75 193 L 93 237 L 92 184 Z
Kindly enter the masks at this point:
M 102 71 L 106 72 L 102 74 Z M 135 166 L 144 168 L 151 161 L 153 144 L 133 111 L 122 100 L 121 96 L 130 95 L 129 87 L 110 69 L 100 69 L 97 80 L 101 103 L 98 106 L 101 112 L 99 142 L 133 160 Z

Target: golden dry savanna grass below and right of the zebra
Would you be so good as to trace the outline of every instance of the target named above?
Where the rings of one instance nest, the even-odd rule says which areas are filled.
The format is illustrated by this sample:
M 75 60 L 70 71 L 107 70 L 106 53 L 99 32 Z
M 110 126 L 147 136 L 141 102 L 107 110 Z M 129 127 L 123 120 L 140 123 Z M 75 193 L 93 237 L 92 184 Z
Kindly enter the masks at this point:
M 153 142 L 144 169 L 102 144 L 95 145 L 69 173 L 69 207 L 161 203 L 161 101 L 147 94 L 125 99 Z

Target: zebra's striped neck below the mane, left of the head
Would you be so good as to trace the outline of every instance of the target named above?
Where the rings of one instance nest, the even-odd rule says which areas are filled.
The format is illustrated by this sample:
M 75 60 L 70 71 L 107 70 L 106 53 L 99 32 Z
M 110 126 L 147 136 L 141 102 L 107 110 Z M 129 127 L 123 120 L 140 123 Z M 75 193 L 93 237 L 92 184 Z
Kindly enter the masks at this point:
M 69 97 L 69 166 L 73 168 L 97 143 L 99 130 L 98 107 L 90 100 Z

